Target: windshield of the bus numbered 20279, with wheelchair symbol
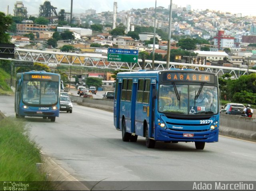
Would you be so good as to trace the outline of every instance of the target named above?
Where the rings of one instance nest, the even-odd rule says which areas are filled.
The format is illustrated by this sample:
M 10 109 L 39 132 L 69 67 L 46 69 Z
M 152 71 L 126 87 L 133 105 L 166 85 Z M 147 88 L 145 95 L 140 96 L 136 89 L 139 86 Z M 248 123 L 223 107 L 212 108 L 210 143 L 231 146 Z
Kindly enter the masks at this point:
M 204 85 L 160 85 L 158 111 L 170 114 L 205 115 L 218 113 L 218 89 Z

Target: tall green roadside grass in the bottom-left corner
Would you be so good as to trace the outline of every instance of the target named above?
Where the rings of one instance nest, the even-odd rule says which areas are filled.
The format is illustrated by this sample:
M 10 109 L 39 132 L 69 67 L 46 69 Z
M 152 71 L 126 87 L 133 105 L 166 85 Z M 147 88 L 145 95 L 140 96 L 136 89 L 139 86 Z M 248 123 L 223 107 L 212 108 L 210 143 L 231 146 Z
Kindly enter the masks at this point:
M 7 117 L 0 124 L 0 181 L 27 182 L 27 190 L 53 190 L 46 175 L 36 167 L 36 163 L 42 163 L 40 150 L 30 141 L 25 122 Z

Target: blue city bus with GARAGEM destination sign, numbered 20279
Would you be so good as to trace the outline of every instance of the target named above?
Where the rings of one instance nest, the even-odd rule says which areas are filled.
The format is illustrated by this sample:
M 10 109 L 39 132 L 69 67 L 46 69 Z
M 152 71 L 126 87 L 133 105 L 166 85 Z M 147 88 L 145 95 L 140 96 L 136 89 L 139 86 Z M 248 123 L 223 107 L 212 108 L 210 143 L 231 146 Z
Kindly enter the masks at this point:
M 114 126 L 122 140 L 218 142 L 219 89 L 215 73 L 190 69 L 121 72 L 116 76 Z

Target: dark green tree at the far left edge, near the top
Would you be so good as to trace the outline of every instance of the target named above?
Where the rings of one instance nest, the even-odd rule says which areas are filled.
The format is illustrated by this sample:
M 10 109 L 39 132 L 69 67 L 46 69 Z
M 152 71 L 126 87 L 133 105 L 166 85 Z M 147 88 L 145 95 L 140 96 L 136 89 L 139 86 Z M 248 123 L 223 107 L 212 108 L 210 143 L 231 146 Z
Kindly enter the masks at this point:
M 6 33 L 8 27 L 12 24 L 12 19 L 0 12 L 0 43 L 10 43 L 10 36 Z

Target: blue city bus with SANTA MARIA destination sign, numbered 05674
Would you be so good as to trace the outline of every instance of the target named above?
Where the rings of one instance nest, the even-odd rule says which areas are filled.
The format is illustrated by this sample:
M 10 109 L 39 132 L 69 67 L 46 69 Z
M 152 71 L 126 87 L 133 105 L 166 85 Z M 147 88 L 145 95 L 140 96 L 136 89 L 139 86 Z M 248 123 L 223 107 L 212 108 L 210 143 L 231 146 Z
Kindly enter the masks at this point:
M 60 113 L 60 75 L 45 71 L 18 73 L 16 77 L 16 117 L 48 118 L 55 122 Z

